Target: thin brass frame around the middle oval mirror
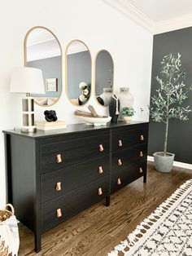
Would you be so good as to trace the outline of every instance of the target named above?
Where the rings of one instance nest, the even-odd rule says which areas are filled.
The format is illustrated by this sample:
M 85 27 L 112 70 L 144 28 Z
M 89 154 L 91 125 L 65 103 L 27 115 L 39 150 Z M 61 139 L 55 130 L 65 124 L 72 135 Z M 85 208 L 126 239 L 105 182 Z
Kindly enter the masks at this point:
M 92 90 L 93 90 L 92 64 L 93 64 L 93 60 L 92 60 L 91 53 L 90 53 L 90 51 L 89 51 L 90 63 L 91 63 L 91 66 L 90 66 L 90 70 L 91 70 L 91 73 L 90 73 L 90 81 L 91 81 L 90 88 L 91 88 L 91 90 L 90 90 L 89 99 L 88 99 L 87 102 L 86 102 L 85 104 L 83 104 L 83 105 L 74 104 L 74 103 L 72 103 L 72 100 L 71 100 L 70 96 L 68 95 L 68 58 L 67 58 L 67 55 L 68 55 L 68 47 L 70 46 L 70 44 L 71 44 L 72 42 L 76 42 L 76 41 L 82 42 L 82 43 L 86 46 L 87 50 L 89 51 L 89 47 L 85 44 L 85 42 L 81 41 L 80 39 L 72 39 L 72 41 L 68 42 L 68 45 L 67 45 L 66 50 L 65 50 L 65 92 L 66 92 L 66 95 L 68 96 L 68 100 L 70 101 L 70 103 L 71 103 L 73 106 L 76 106 L 76 107 L 80 108 L 80 107 L 85 107 L 85 105 L 89 103 L 89 100 L 90 100 L 91 95 L 92 95 Z

